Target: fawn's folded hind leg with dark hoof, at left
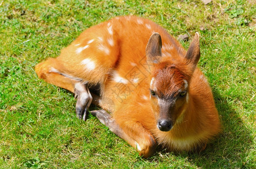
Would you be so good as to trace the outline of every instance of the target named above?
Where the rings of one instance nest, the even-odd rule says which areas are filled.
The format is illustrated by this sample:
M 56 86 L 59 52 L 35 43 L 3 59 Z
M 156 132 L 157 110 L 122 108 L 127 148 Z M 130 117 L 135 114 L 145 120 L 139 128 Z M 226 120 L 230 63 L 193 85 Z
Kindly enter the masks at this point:
M 98 96 L 90 94 L 88 86 L 83 83 L 82 79 L 63 74 L 56 62 L 55 59 L 48 59 L 37 64 L 36 73 L 44 81 L 73 92 L 77 99 L 76 115 L 85 121 L 90 104 L 93 101 L 97 105 Z

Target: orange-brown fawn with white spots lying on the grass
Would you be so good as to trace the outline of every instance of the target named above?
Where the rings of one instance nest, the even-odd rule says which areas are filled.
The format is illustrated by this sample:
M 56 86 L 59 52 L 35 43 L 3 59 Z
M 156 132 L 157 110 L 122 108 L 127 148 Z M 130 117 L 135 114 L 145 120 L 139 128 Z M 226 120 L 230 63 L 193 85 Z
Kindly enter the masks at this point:
M 85 30 L 35 70 L 75 94 L 80 119 L 91 103 L 102 108 L 90 113 L 147 158 L 157 146 L 203 150 L 220 132 L 199 57 L 198 33 L 186 52 L 153 21 L 120 16 Z

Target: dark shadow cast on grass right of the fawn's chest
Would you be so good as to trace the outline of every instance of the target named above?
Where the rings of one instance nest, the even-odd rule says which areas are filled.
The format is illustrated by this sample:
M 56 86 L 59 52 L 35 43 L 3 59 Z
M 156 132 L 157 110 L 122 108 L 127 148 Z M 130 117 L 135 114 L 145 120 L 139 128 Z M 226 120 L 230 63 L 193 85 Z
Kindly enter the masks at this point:
M 246 128 L 237 110 L 228 104 L 219 91 L 212 92 L 222 122 L 222 133 L 200 154 L 174 153 L 174 155 L 188 158 L 190 164 L 202 168 L 256 167 L 255 157 L 249 154 L 253 144 L 252 131 Z

